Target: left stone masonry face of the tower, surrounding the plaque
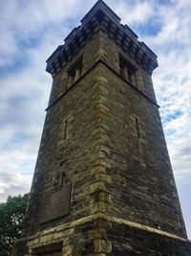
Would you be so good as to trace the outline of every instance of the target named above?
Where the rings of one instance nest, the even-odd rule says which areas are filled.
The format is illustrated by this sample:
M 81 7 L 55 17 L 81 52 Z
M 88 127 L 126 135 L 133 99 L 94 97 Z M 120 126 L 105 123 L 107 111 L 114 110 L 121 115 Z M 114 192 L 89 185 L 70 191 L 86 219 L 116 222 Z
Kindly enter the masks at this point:
M 31 200 L 28 207 L 26 225 L 23 236 L 38 230 L 51 227 L 61 222 L 72 221 L 97 211 L 95 200 L 95 186 L 92 184 L 104 179 L 99 177 L 99 149 L 100 149 L 100 82 L 97 74 L 99 67 L 85 74 L 99 58 L 97 51 L 99 35 L 95 35 L 90 44 L 83 49 L 82 68 L 83 79 L 76 81 L 74 86 L 62 96 L 59 101 L 47 110 L 44 130 L 32 182 Z M 81 56 L 80 52 L 71 62 Z M 62 70 L 53 80 L 50 105 L 60 97 L 60 92 L 67 90 L 67 80 L 61 80 L 66 70 Z M 61 81 L 62 82 L 61 82 Z M 67 138 L 64 139 L 65 121 L 67 120 Z M 96 169 L 96 171 L 94 171 Z M 53 207 L 53 177 L 64 174 L 64 183 L 72 184 L 72 202 L 70 214 L 51 221 L 42 221 L 52 212 L 62 211 L 64 205 Z M 107 179 L 107 178 L 106 178 Z M 104 179 L 105 180 L 105 179 Z M 96 186 L 99 186 L 98 183 Z M 60 194 L 60 203 L 61 202 Z M 59 198 L 58 198 L 59 200 Z M 50 202 L 51 203 L 51 202 Z M 92 205 L 92 206 L 91 206 Z M 59 209 L 54 209 L 58 207 Z M 46 210 L 43 210 L 46 209 Z M 61 214 L 61 213 L 60 213 Z M 59 216 L 59 213 L 57 214 Z

